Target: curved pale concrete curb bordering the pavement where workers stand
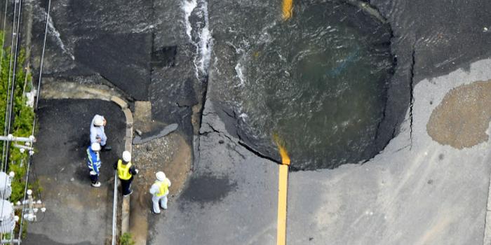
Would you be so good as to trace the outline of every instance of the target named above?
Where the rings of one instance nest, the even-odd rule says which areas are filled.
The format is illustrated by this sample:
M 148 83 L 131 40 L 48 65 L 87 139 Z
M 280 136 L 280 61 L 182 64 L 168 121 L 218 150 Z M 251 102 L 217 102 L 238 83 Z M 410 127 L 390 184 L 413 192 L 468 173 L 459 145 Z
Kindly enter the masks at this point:
M 84 85 L 79 83 L 46 83 L 41 93 L 43 99 L 102 99 L 114 102 L 124 113 L 126 118 L 126 134 L 124 137 L 124 150 L 132 153 L 133 141 L 133 114 L 128 103 L 118 94 L 105 85 Z M 115 176 L 117 178 L 117 176 Z M 130 196 L 123 197 L 121 204 L 121 235 L 129 232 L 130 228 Z

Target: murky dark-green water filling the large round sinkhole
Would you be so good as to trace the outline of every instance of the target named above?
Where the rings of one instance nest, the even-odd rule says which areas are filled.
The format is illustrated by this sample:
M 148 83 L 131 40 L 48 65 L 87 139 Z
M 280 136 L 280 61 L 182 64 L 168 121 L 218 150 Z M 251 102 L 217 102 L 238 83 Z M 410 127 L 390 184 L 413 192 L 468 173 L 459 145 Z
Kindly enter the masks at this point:
M 390 29 L 342 1 L 302 1 L 238 58 L 231 102 L 239 131 L 278 158 L 278 134 L 297 169 L 337 167 L 382 150 L 377 127 L 394 66 Z

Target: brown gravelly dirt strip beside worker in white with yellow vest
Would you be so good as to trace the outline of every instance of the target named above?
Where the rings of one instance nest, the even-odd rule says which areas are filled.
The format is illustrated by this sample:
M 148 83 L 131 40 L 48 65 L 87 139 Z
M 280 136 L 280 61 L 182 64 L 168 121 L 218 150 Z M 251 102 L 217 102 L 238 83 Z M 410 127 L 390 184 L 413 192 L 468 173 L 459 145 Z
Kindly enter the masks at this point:
M 172 207 L 173 197 L 180 193 L 187 180 L 191 160 L 191 146 L 177 133 L 133 146 L 133 163 L 140 173 L 133 181 L 133 195 L 130 200 L 130 232 L 137 244 L 143 244 L 146 240 L 147 217 L 152 215 L 150 212 L 152 197 L 149 194 L 149 188 L 156 180 L 155 173 L 165 172 L 172 182 L 169 188 L 169 206 Z

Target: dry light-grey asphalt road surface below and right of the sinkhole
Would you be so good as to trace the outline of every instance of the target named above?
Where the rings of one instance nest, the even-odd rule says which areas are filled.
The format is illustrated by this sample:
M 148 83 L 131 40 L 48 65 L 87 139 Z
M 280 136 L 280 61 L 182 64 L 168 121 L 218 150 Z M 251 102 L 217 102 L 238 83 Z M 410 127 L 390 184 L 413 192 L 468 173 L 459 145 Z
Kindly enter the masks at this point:
M 419 81 L 412 130 L 407 111 L 400 134 L 363 165 L 290 172 L 287 244 L 481 244 L 490 142 L 443 146 L 426 124 L 452 88 L 491 78 L 490 66 L 484 59 Z M 184 197 L 184 190 L 153 224 L 149 244 L 274 244 L 277 165 L 227 135 L 213 102 L 203 113 L 191 179 L 220 179 L 215 188 L 227 193 L 209 201 Z

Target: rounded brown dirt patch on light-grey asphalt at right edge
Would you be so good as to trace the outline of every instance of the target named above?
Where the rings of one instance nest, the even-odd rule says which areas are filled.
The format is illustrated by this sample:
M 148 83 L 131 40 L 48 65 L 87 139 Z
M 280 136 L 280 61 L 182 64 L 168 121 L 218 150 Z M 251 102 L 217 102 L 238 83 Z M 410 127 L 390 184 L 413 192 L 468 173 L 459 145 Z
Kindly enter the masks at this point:
M 450 90 L 431 113 L 426 131 L 440 144 L 462 149 L 487 141 L 491 118 L 491 80 Z

